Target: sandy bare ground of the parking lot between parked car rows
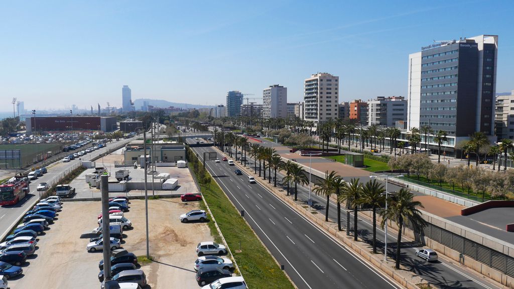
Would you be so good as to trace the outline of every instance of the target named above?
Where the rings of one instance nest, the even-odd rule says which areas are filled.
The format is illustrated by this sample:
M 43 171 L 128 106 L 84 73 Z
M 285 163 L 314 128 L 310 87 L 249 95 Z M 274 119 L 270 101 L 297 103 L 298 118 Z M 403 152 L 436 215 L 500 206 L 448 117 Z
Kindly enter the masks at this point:
M 150 288 L 198 288 L 193 263 L 198 242 L 212 240 L 206 223 L 182 224 L 178 215 L 198 208 L 179 198 L 149 200 L 150 255 L 156 262 L 141 267 Z M 125 217 L 134 229 L 126 230 L 123 248 L 145 255 L 144 200 L 131 200 Z M 80 235 L 97 226 L 100 202 L 66 202 L 58 220 L 40 237 L 36 256 L 23 266 L 24 276 L 9 280 L 13 289 L 97 288 L 101 252 L 89 253 L 88 239 Z M 50 277 L 50 278 L 49 278 Z

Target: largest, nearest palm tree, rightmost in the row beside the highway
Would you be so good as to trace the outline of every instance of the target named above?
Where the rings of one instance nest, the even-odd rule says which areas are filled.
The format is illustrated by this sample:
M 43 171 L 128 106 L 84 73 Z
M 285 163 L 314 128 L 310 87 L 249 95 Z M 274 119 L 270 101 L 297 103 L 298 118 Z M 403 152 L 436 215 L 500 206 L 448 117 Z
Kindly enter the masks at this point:
M 421 212 L 417 207 L 424 208 L 420 202 L 413 200 L 414 194 L 406 188 L 401 188 L 396 194 L 391 196 L 388 202 L 387 210 L 382 210 L 382 222 L 380 226 L 383 228 L 388 220 L 394 220 L 398 225 L 398 237 L 396 238 L 396 269 L 400 268 L 400 250 L 401 250 L 401 232 L 403 225 L 410 225 L 414 231 L 422 231 L 426 225 L 426 221 L 421 218 Z M 386 252 L 387 254 L 387 252 Z

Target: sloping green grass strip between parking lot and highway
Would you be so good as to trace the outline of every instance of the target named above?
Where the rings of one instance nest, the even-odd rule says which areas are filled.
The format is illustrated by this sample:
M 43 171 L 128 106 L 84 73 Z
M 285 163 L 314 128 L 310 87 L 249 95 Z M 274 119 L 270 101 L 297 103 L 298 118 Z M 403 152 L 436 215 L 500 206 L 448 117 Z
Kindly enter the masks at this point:
M 228 197 L 215 182 L 201 185 L 201 192 L 209 204 L 227 245 L 250 288 L 293 288 L 291 282 L 273 260 L 264 245 L 243 220 Z M 217 236 L 214 222 L 209 222 L 213 236 Z M 218 237 L 219 238 L 219 237 Z M 215 240 L 219 242 L 221 240 Z M 240 249 L 242 252 L 236 253 Z

